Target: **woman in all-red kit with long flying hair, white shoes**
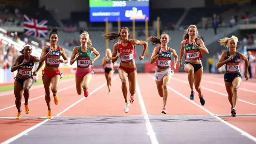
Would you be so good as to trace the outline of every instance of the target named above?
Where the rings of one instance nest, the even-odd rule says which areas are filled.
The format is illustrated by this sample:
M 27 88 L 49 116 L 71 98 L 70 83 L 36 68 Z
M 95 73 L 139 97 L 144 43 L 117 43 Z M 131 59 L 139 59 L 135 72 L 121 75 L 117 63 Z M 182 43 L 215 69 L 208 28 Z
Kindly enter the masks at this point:
M 120 57 L 120 65 L 118 68 L 118 74 L 122 81 L 122 92 L 123 97 L 125 98 L 125 113 L 129 112 L 129 102 L 127 100 L 127 87 L 126 87 L 126 77 L 128 77 L 129 81 L 129 90 L 130 90 L 130 103 L 134 102 L 134 94 L 136 92 L 136 78 L 137 78 L 137 70 L 134 60 L 135 54 L 135 45 L 143 45 L 142 55 L 139 57 L 140 60 L 144 59 L 144 55 L 146 49 L 148 48 L 148 42 L 137 39 L 130 39 L 131 34 L 129 33 L 129 29 L 127 27 L 121 27 L 119 33 L 114 32 L 105 32 L 103 33 L 104 39 L 117 40 L 120 39 L 119 42 L 114 44 L 113 54 L 112 54 L 112 62 L 116 62 L 117 58 Z M 119 54 L 117 54 L 117 51 Z M 117 54 L 117 55 L 116 55 Z

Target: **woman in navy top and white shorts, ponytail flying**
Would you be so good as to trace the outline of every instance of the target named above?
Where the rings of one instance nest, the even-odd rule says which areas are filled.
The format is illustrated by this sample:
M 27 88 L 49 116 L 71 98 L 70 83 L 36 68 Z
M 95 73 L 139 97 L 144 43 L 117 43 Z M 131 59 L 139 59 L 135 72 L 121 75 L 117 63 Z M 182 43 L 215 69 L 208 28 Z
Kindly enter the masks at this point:
M 157 37 L 148 37 L 148 42 L 153 42 L 153 44 L 161 44 L 154 48 L 152 52 L 150 63 L 155 62 L 155 83 L 157 84 L 157 91 L 160 97 L 163 97 L 163 110 L 162 113 L 166 114 L 166 103 L 167 97 L 169 95 L 168 84 L 171 81 L 171 78 L 174 76 L 172 70 L 176 69 L 178 62 L 178 55 L 176 54 L 175 49 L 169 48 L 169 35 L 162 33 L 160 39 Z M 171 55 L 174 56 L 174 65 L 171 70 Z

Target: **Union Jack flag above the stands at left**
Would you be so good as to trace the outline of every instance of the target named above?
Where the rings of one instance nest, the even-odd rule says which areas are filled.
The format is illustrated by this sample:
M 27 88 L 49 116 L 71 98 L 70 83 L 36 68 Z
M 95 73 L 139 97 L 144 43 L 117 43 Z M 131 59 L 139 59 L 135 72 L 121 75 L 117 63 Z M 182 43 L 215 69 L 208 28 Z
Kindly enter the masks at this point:
M 47 37 L 47 22 L 47 20 L 42 20 L 38 23 L 34 18 L 24 15 L 24 34 L 27 36 Z

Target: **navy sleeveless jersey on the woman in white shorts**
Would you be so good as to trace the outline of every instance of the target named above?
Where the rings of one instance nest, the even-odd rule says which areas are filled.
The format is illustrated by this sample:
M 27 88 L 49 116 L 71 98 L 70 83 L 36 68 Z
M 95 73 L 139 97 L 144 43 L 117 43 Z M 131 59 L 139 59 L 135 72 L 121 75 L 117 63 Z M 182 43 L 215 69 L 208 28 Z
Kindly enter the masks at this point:
M 159 46 L 159 51 L 160 52 L 161 46 Z M 164 52 L 162 51 L 162 54 L 159 55 L 157 60 L 155 61 L 155 66 L 158 68 L 170 68 L 171 66 L 171 60 L 172 60 L 172 54 L 170 51 L 170 48 L 168 47 L 168 51 Z

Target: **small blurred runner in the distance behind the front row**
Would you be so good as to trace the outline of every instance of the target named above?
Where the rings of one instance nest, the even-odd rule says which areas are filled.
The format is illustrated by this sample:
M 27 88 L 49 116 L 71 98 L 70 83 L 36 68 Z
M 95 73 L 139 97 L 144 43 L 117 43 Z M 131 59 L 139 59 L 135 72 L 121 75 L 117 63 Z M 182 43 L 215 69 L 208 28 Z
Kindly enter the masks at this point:
M 114 74 L 114 65 L 116 65 L 116 62 L 112 63 L 111 57 L 112 57 L 112 52 L 108 48 L 106 49 L 106 57 L 102 59 L 102 66 L 105 69 L 105 77 L 107 80 L 108 93 L 110 93 L 110 86 L 112 86 L 111 77 Z

